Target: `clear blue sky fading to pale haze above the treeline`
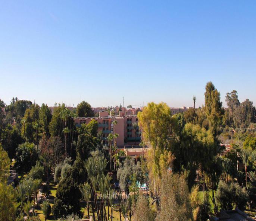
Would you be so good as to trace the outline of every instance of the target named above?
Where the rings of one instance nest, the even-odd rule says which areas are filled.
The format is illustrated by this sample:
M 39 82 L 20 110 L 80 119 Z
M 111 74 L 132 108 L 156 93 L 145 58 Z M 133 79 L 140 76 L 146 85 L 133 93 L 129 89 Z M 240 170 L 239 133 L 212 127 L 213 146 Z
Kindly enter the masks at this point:
M 0 1 L 0 98 L 256 105 L 256 1 Z

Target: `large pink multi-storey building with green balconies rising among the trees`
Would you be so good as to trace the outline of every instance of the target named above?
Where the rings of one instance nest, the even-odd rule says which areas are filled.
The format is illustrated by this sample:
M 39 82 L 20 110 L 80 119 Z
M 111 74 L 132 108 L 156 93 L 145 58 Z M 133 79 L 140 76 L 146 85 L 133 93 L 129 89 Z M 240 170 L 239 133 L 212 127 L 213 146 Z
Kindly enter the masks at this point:
M 116 139 L 116 145 L 118 147 L 124 147 L 125 145 L 136 145 L 140 143 L 141 132 L 137 128 L 134 131 L 132 123 L 137 122 L 136 115 L 124 115 L 123 111 L 119 112 L 119 116 L 109 116 L 107 111 L 99 112 L 99 117 L 93 118 L 74 118 L 75 125 L 80 127 L 81 124 L 88 124 L 92 119 L 96 120 L 99 124 L 98 131 L 102 131 L 103 144 L 107 144 L 107 135 L 110 133 L 119 134 Z M 113 121 L 117 121 L 116 125 L 113 125 Z

